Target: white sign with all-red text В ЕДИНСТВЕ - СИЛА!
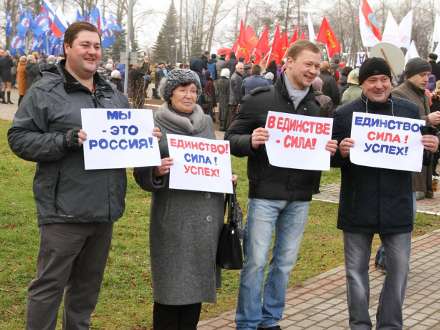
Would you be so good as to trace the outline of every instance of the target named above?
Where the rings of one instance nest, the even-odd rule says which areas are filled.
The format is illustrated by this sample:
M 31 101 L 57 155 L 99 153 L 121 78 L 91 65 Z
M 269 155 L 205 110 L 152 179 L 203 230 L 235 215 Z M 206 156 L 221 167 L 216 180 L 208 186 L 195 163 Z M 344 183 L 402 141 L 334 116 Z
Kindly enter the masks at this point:
M 266 152 L 269 163 L 278 167 L 325 171 L 330 169 L 333 118 L 269 111 Z

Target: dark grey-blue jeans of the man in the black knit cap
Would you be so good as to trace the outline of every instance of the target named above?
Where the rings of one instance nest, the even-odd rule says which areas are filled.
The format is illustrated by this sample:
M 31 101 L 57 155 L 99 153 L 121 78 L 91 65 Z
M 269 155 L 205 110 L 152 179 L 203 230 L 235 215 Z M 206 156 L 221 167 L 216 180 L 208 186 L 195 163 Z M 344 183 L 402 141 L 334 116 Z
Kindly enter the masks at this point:
M 368 313 L 370 281 L 368 264 L 374 234 L 344 231 L 345 271 L 350 329 L 370 330 Z M 385 247 L 387 270 L 376 314 L 376 329 L 402 329 L 402 306 L 405 299 L 411 252 L 411 233 L 380 235 Z

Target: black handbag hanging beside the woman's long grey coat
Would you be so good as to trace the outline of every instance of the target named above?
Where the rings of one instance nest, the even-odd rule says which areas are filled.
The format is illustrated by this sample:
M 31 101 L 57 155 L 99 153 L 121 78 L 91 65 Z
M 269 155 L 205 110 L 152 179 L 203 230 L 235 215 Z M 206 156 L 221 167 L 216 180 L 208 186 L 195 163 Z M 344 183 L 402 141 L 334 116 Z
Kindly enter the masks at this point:
M 237 201 L 235 191 L 225 198 L 227 221 L 223 224 L 217 247 L 217 265 L 223 269 L 243 268 L 241 247 L 241 223 L 243 213 Z

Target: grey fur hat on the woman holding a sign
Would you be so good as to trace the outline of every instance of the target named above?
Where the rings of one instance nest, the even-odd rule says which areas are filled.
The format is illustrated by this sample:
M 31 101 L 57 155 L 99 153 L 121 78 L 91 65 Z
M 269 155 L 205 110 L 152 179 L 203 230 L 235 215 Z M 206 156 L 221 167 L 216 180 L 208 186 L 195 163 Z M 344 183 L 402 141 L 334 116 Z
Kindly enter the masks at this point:
M 173 91 L 186 84 L 193 83 L 197 87 L 197 95 L 202 92 L 202 85 L 200 84 L 200 79 L 197 73 L 188 69 L 174 69 L 168 73 L 165 79 L 162 79 L 160 83 L 159 93 L 162 98 L 169 102 Z

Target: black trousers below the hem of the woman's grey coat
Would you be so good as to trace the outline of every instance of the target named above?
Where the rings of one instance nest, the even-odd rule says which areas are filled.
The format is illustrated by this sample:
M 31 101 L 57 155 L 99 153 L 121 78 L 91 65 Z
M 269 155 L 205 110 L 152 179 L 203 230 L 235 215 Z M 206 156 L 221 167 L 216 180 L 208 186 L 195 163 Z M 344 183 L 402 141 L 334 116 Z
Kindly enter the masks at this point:
M 154 330 L 196 330 L 202 304 L 163 305 L 154 302 Z

